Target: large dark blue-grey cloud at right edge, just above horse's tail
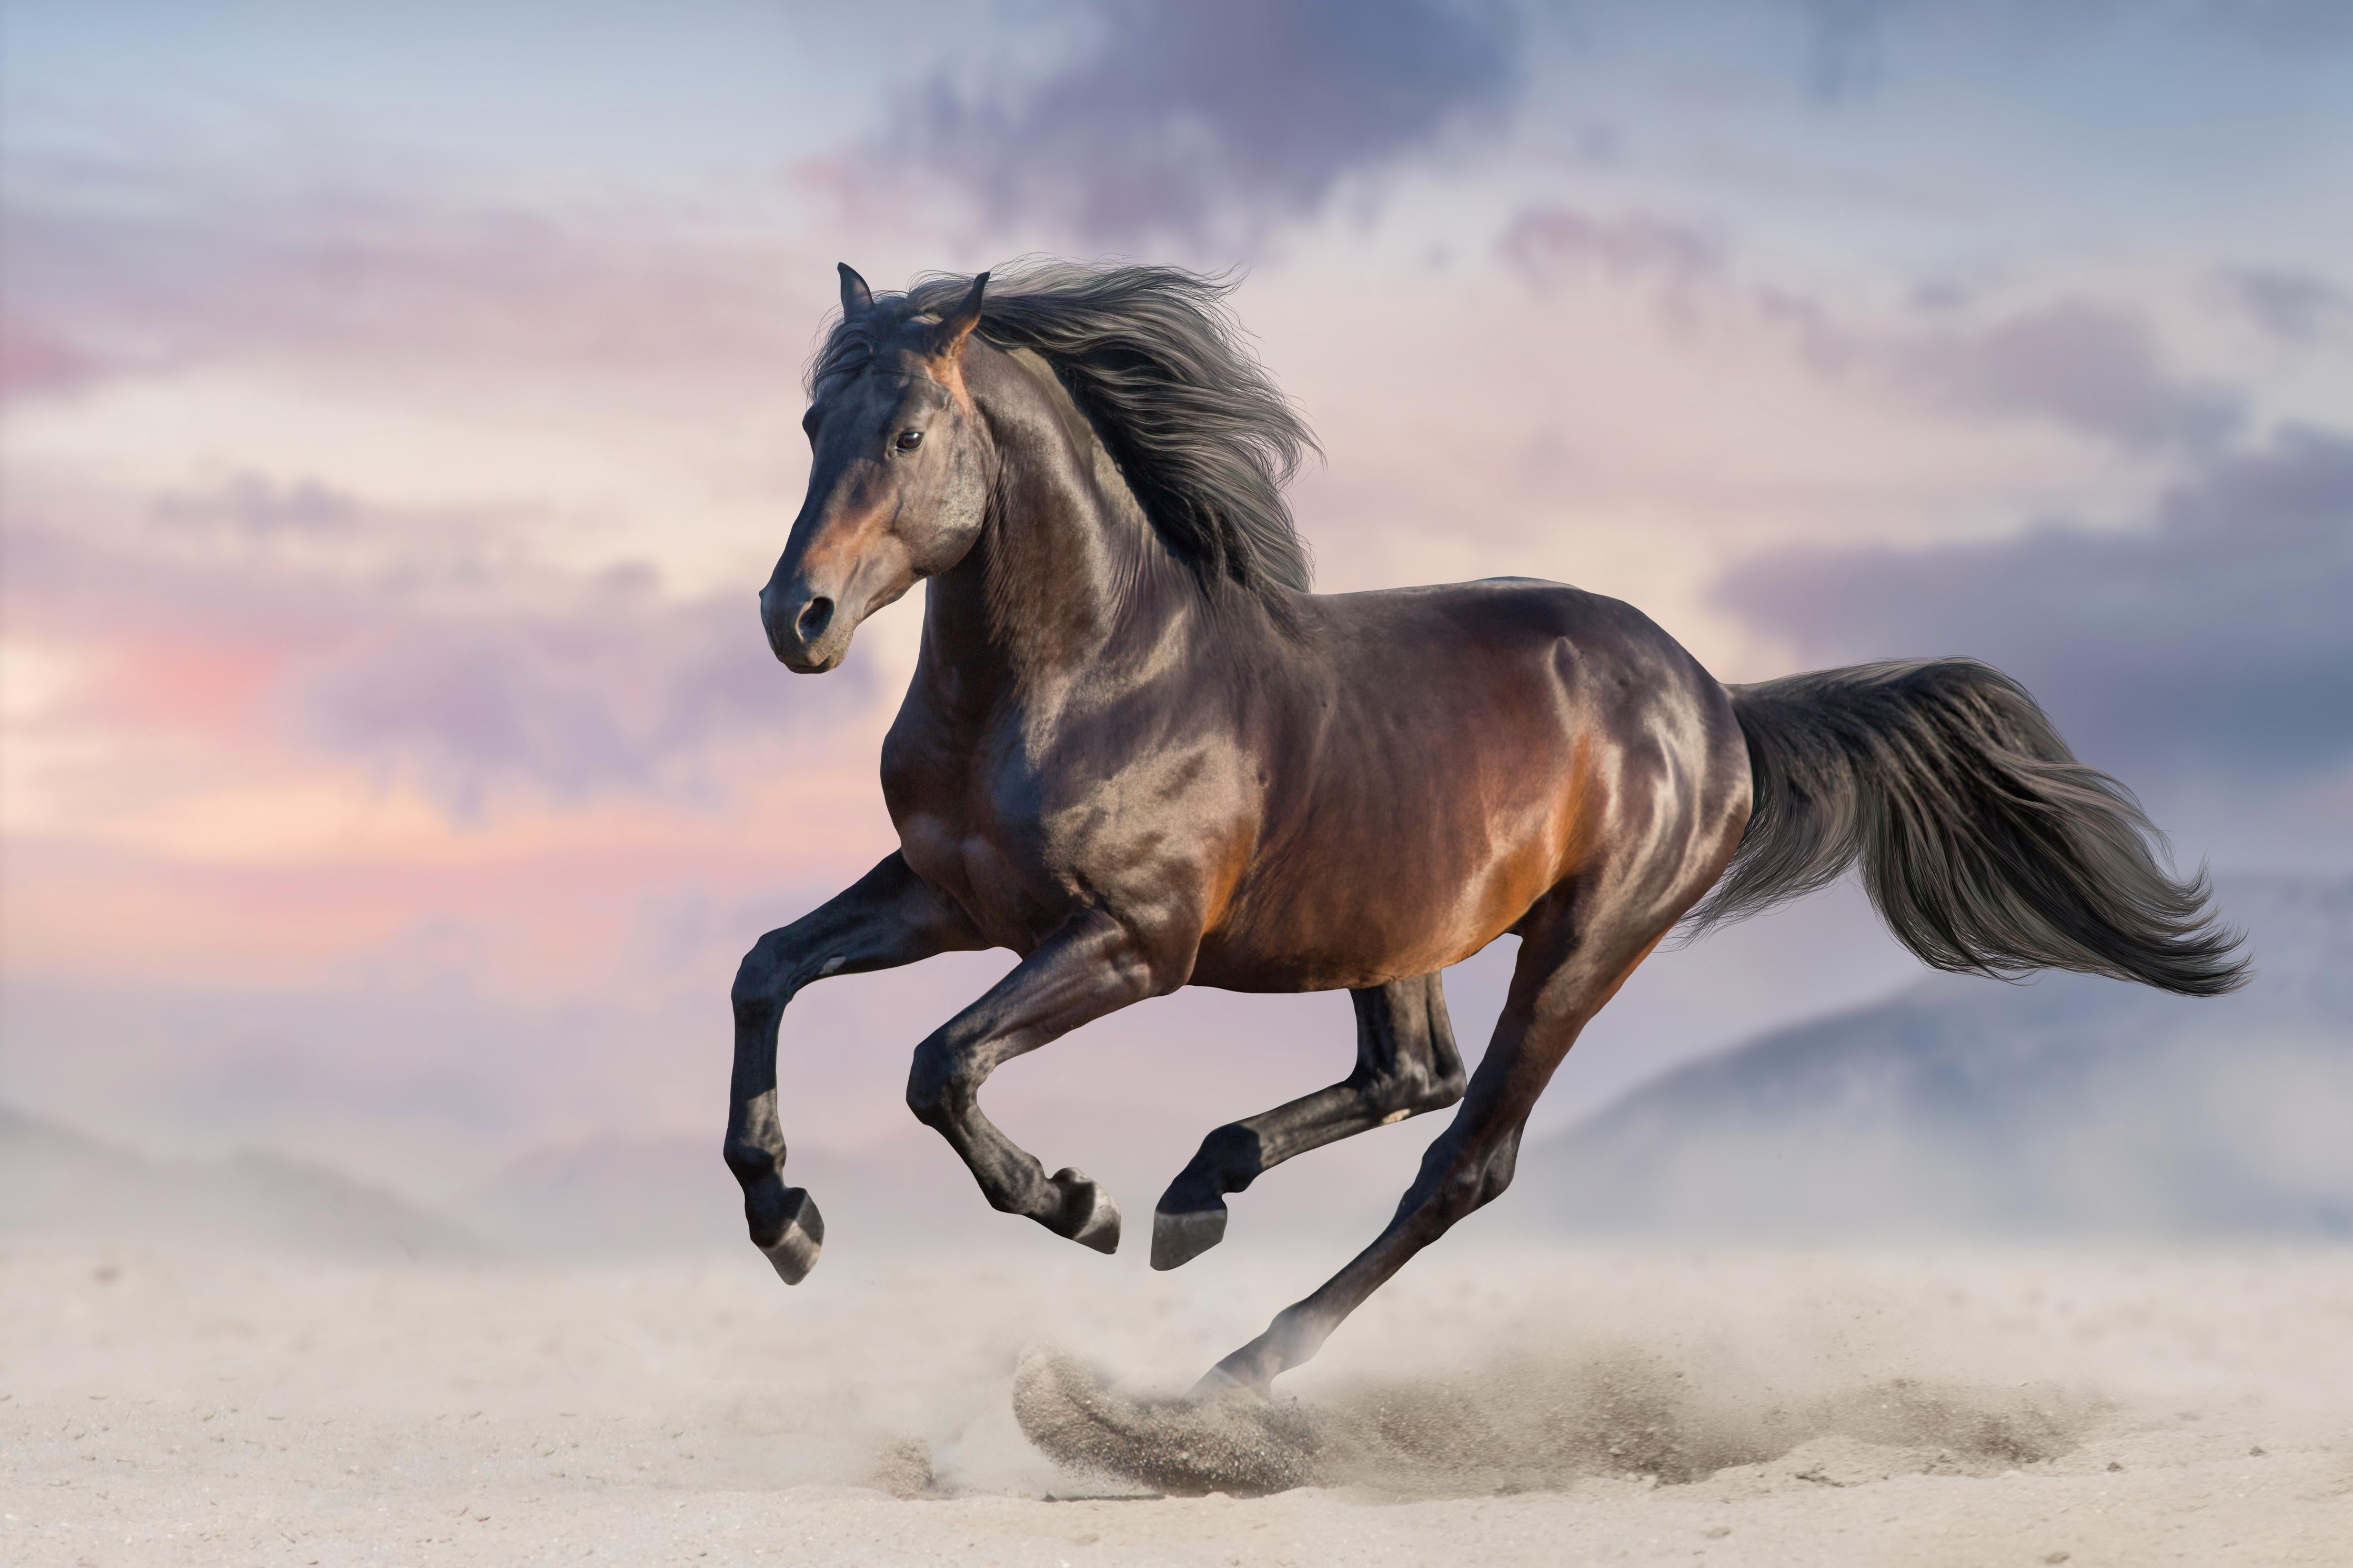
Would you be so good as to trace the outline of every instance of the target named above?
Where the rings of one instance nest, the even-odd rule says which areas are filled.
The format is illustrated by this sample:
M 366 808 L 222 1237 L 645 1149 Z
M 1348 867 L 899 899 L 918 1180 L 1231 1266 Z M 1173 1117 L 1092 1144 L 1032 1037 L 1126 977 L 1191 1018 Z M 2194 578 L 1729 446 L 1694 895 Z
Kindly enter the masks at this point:
M 2311 776 L 2353 759 L 2353 440 L 2212 461 L 2125 531 L 1779 550 L 1720 599 L 1809 663 L 1974 654 L 2101 766 Z

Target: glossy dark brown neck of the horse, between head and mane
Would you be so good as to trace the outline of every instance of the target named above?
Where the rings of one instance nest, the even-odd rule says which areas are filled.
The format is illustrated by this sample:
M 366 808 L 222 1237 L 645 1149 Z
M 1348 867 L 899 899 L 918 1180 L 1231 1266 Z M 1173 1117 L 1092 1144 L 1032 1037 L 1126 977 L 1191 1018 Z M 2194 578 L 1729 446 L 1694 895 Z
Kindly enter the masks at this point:
M 965 386 L 995 444 L 981 538 L 932 578 L 925 663 L 965 693 L 1120 663 L 1186 621 L 1186 567 L 1035 355 L 972 343 Z

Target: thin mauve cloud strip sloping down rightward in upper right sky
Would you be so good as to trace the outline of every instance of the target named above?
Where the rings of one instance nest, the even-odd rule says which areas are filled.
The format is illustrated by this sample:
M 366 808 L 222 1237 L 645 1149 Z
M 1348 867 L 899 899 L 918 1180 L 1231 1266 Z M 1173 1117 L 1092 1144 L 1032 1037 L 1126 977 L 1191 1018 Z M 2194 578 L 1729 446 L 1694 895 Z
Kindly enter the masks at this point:
M 2151 324 L 2120 306 L 2054 299 L 1969 315 L 1840 310 L 1814 294 L 1751 282 L 1732 247 L 1649 212 L 1598 216 L 1527 207 L 1497 256 L 1532 287 L 1649 289 L 1678 327 L 1729 320 L 1784 334 L 1819 374 L 1864 381 L 1929 409 L 2035 418 L 2127 451 L 2212 451 L 2245 421 L 2245 397 L 2177 371 Z

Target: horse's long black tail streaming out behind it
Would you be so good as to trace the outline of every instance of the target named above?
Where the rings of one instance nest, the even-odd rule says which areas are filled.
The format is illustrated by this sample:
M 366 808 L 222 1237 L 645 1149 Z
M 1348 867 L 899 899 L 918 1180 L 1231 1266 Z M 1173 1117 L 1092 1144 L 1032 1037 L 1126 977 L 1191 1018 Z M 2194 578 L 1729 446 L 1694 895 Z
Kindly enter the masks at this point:
M 2212 997 L 2247 980 L 2200 870 L 2177 882 L 2132 792 L 2068 752 L 2026 689 L 1972 658 L 1732 686 L 1755 806 L 1692 912 L 1704 931 L 1833 882 L 1937 969 L 2080 969 Z

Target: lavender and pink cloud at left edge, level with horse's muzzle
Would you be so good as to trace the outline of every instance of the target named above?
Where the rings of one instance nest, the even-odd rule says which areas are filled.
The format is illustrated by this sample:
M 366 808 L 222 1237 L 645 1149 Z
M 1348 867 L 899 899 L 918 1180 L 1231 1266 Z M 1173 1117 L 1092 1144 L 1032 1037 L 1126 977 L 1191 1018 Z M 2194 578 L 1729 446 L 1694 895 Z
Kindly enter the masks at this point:
M 499 520 L 249 475 L 132 527 L 38 512 L 12 520 L 5 604 L 19 637 L 85 665 L 38 719 L 52 731 L 358 757 L 471 816 L 504 788 L 708 792 L 732 743 L 873 696 L 859 672 L 786 677 L 748 585 L 675 597 L 649 567 L 536 567 Z

